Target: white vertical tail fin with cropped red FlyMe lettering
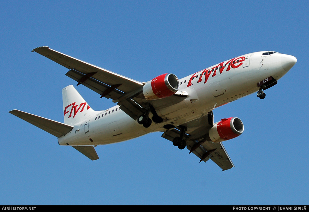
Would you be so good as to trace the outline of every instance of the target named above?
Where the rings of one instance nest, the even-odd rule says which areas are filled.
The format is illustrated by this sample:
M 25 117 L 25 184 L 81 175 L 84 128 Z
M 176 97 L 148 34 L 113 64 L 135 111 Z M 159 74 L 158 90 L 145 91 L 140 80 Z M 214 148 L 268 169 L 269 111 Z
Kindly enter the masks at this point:
M 92 110 L 73 85 L 62 89 L 64 123 L 71 126 L 86 120 L 95 110 Z

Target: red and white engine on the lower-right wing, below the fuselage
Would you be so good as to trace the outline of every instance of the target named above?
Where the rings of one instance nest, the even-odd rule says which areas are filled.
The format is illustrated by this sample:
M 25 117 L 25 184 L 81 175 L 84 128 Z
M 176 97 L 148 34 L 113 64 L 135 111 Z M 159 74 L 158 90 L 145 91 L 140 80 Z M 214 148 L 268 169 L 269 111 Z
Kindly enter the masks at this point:
M 214 123 L 209 130 L 209 137 L 214 143 L 226 141 L 243 133 L 243 122 L 237 117 L 223 118 Z

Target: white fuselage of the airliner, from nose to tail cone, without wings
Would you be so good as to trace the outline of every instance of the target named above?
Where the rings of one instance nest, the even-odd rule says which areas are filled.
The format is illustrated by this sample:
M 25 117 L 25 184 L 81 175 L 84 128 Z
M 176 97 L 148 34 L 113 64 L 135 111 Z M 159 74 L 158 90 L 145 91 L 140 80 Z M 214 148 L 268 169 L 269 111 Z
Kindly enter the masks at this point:
M 162 123 L 153 122 L 149 128 L 145 128 L 117 105 L 108 110 L 97 111 L 95 116 L 87 118 L 86 125 L 85 122 L 75 124 L 72 131 L 58 139 L 58 143 L 60 145 L 116 143 L 150 132 L 165 131 L 163 126 L 166 124 L 179 126 L 207 115 L 216 107 L 258 91 L 258 82 L 270 76 L 278 80 L 287 73 L 288 70 L 286 71 L 283 66 L 286 58 L 293 56 L 280 53 L 262 55 L 262 53 L 255 52 L 236 57 L 234 60 L 226 60 L 180 79 L 179 91 L 186 92 L 188 97 L 167 97 L 181 98 L 182 101 L 171 106 L 156 106 L 157 114 L 164 120 Z M 231 61 L 235 63 L 229 64 Z

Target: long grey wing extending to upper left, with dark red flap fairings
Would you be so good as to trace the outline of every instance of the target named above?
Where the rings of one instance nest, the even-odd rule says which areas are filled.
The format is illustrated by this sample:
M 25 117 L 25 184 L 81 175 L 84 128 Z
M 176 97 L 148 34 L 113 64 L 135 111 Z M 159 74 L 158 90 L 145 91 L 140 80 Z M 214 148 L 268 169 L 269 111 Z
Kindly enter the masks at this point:
M 144 108 L 141 107 L 144 102 L 132 99 L 142 90 L 143 83 L 57 52 L 47 46 L 35 48 L 32 52 L 37 52 L 70 69 L 66 76 L 77 81 L 77 85 L 85 85 L 100 94 L 100 98 L 111 98 L 114 102 L 118 102 L 121 110 L 134 120 L 144 113 Z

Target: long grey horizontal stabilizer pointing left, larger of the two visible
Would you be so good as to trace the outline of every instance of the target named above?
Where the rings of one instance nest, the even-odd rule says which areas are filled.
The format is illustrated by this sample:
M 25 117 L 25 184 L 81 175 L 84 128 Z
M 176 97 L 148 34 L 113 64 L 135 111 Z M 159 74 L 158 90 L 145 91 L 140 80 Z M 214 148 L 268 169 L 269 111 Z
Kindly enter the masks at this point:
M 26 113 L 20 110 L 11 110 L 9 113 L 25 120 L 26 122 L 29 122 L 30 124 L 33 124 L 36 127 L 41 128 L 42 130 L 56 136 L 57 138 L 61 137 L 62 135 L 66 135 L 73 129 L 73 127 L 70 125 Z

